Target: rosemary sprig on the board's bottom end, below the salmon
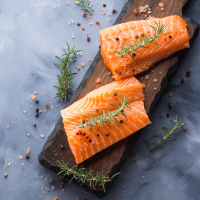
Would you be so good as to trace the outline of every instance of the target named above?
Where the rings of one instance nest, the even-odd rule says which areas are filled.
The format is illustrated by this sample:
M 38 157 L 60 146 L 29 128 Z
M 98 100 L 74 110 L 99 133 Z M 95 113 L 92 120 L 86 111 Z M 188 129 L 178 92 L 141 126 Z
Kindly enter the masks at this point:
M 61 171 L 58 173 L 58 175 L 63 172 L 65 172 L 63 177 L 66 175 L 72 175 L 72 178 L 69 183 L 71 183 L 73 179 L 76 179 L 79 182 L 82 182 L 82 185 L 88 182 L 89 186 L 93 188 L 94 190 L 96 189 L 96 186 L 99 185 L 103 188 L 104 192 L 105 192 L 105 184 L 107 182 L 110 182 L 115 176 L 121 173 L 121 172 L 118 172 L 114 174 L 111 178 L 109 178 L 108 172 L 103 174 L 103 171 L 102 171 L 95 174 L 94 170 L 89 169 L 89 171 L 87 171 L 86 168 L 78 168 L 78 165 L 75 165 L 72 168 L 69 168 L 68 163 L 65 164 L 63 160 L 62 162 L 58 161 L 58 163 L 59 163 L 58 166 L 61 168 Z

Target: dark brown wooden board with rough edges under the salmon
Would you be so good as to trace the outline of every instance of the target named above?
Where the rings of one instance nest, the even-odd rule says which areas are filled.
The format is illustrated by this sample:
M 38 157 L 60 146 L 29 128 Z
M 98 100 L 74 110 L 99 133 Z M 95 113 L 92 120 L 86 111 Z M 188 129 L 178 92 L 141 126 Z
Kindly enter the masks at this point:
M 159 3 L 164 3 L 164 10 L 158 6 Z M 133 20 L 145 20 L 147 13 L 139 13 L 138 15 L 134 14 L 134 9 L 139 8 L 139 6 L 149 5 L 151 8 L 151 13 L 148 14 L 152 17 L 166 17 L 169 15 L 179 15 L 182 16 L 182 8 L 186 3 L 185 0 L 140 0 L 132 1 L 129 0 L 124 8 L 122 9 L 118 19 L 115 24 L 133 21 Z M 188 25 L 188 32 L 190 36 L 190 44 L 193 42 L 195 37 L 198 34 L 198 25 L 188 19 L 184 18 Z M 183 50 L 178 52 L 169 58 L 160 61 L 159 63 L 152 66 L 152 68 L 138 76 L 136 76 L 141 83 L 145 84 L 144 94 L 145 94 L 145 109 L 150 116 L 154 110 L 156 102 L 159 100 L 160 95 L 168 84 L 168 81 L 172 75 L 176 72 L 179 61 L 184 57 L 184 54 L 188 50 Z M 96 55 L 94 61 L 92 62 L 90 68 L 88 69 L 85 77 L 83 78 L 80 86 L 75 91 L 73 99 L 70 103 L 84 97 L 90 91 L 114 81 L 112 75 L 108 75 L 109 70 L 104 66 L 103 59 L 101 57 L 100 51 Z M 146 75 L 149 76 L 149 79 L 146 79 Z M 101 83 L 97 83 L 97 78 L 101 79 Z M 154 82 L 153 79 L 158 79 L 158 82 Z M 104 151 L 96 154 L 85 162 L 81 163 L 79 167 L 85 167 L 86 169 L 90 168 L 94 172 L 104 172 L 109 171 L 110 177 L 120 170 L 120 167 L 124 160 L 127 157 L 127 154 L 130 150 L 130 141 L 134 138 L 137 139 L 140 131 L 135 133 L 133 136 L 125 138 L 124 140 L 119 141 L 118 143 L 112 145 L 111 147 L 105 149 Z M 60 146 L 64 145 L 65 148 L 61 149 Z M 69 148 L 67 137 L 63 129 L 62 119 L 60 118 L 55 126 L 54 131 L 48 137 L 47 142 L 45 143 L 41 153 L 39 154 L 39 162 L 44 167 L 47 167 L 56 173 L 60 171 L 58 167 L 57 160 L 63 160 L 65 163 L 69 163 L 69 167 L 74 166 L 75 159 Z M 71 178 L 71 177 L 65 177 Z M 80 185 L 77 181 L 74 181 L 75 184 Z M 107 194 L 109 188 L 111 187 L 113 181 L 106 184 L 106 193 L 102 191 L 101 187 L 97 187 L 96 190 L 91 189 L 88 185 L 83 185 L 87 191 L 95 194 L 98 197 L 103 197 Z

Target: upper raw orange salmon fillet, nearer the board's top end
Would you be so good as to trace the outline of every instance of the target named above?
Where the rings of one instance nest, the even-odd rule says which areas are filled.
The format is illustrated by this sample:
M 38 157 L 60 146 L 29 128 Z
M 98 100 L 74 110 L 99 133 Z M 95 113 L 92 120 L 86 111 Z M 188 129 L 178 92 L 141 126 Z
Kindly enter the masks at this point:
M 119 58 L 118 53 L 114 50 L 122 47 L 122 44 L 132 43 L 132 41 L 139 41 L 138 36 L 154 34 L 154 30 L 150 26 L 159 24 L 167 24 L 163 36 L 157 38 L 159 44 L 147 44 L 148 48 L 140 48 L 138 51 L 133 52 L 136 55 L 133 60 L 130 55 L 127 58 Z M 106 29 L 99 33 L 101 43 L 101 55 L 103 57 L 105 66 L 112 72 L 115 80 L 136 75 L 145 70 L 148 70 L 153 64 L 162 60 L 173 53 L 189 48 L 189 36 L 184 20 L 177 16 L 172 15 L 165 18 L 155 18 L 151 20 L 131 21 L 127 23 L 118 24 Z

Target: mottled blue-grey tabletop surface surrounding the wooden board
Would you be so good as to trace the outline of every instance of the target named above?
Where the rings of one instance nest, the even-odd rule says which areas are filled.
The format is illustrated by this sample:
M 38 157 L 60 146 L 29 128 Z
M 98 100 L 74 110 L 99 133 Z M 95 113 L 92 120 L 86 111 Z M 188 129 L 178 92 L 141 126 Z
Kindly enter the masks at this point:
M 69 6 L 65 1 L 58 0 L 0 1 L 0 200 L 53 199 L 54 196 L 59 200 L 98 199 L 68 183 L 62 192 L 62 183 L 57 175 L 43 168 L 37 160 L 60 116 L 60 109 L 66 105 L 59 99 L 53 99 L 56 92 L 53 85 L 59 73 L 53 64 L 57 61 L 54 56 L 62 53 L 60 47 L 65 45 L 63 39 L 70 46 L 83 50 L 83 56 L 77 56 L 77 62 L 72 66 L 80 67 L 81 61 L 86 63 L 75 77 L 75 89 L 89 67 L 88 58 L 92 60 L 98 52 L 99 30 L 114 23 L 126 1 L 107 0 L 106 13 L 111 13 L 112 9 L 118 11 L 111 16 L 101 14 L 105 1 L 98 0 L 96 3 L 93 0 L 92 3 L 95 14 L 91 22 L 94 25 L 88 26 L 88 21 L 81 17 L 80 7 L 72 0 Z M 184 10 L 187 17 L 198 23 L 199 3 L 199 0 L 191 0 Z M 70 20 L 75 22 L 69 26 Z M 101 22 L 100 26 L 95 24 L 97 20 Z M 84 32 L 77 27 L 77 22 L 86 28 Z M 71 37 L 73 32 L 74 39 Z M 91 37 L 90 43 L 86 41 L 87 34 Z M 122 167 L 122 174 L 103 199 L 199 199 L 199 54 L 200 36 L 163 94 L 156 114 L 152 115 L 152 125 L 142 131 Z M 188 70 L 191 70 L 190 77 L 185 76 Z M 180 83 L 181 78 L 185 79 L 185 83 Z M 34 91 L 37 91 L 39 104 L 31 100 Z M 169 92 L 174 95 L 168 97 Z M 168 108 L 170 100 L 173 101 L 171 109 Z M 50 102 L 53 102 L 54 108 L 46 109 L 45 105 Z M 37 107 L 47 110 L 38 119 L 35 118 Z M 166 117 L 167 113 L 170 118 Z M 176 114 L 186 119 L 184 127 L 188 131 L 177 133 L 177 140 L 169 141 L 166 149 L 149 150 L 143 140 L 151 141 L 153 135 L 161 132 L 159 128 L 163 122 L 175 119 Z M 37 124 L 36 128 L 33 123 Z M 41 134 L 45 137 L 41 138 Z M 28 147 L 31 149 L 30 159 L 20 160 L 19 155 L 25 156 Z M 139 156 L 137 162 L 131 159 L 135 154 Z M 9 162 L 11 166 L 8 166 Z M 8 173 L 6 179 L 3 177 L 5 172 Z M 49 181 L 50 178 L 54 178 L 54 183 Z M 46 194 L 43 194 L 42 187 L 51 189 L 52 186 L 55 187 L 54 191 L 45 190 Z

